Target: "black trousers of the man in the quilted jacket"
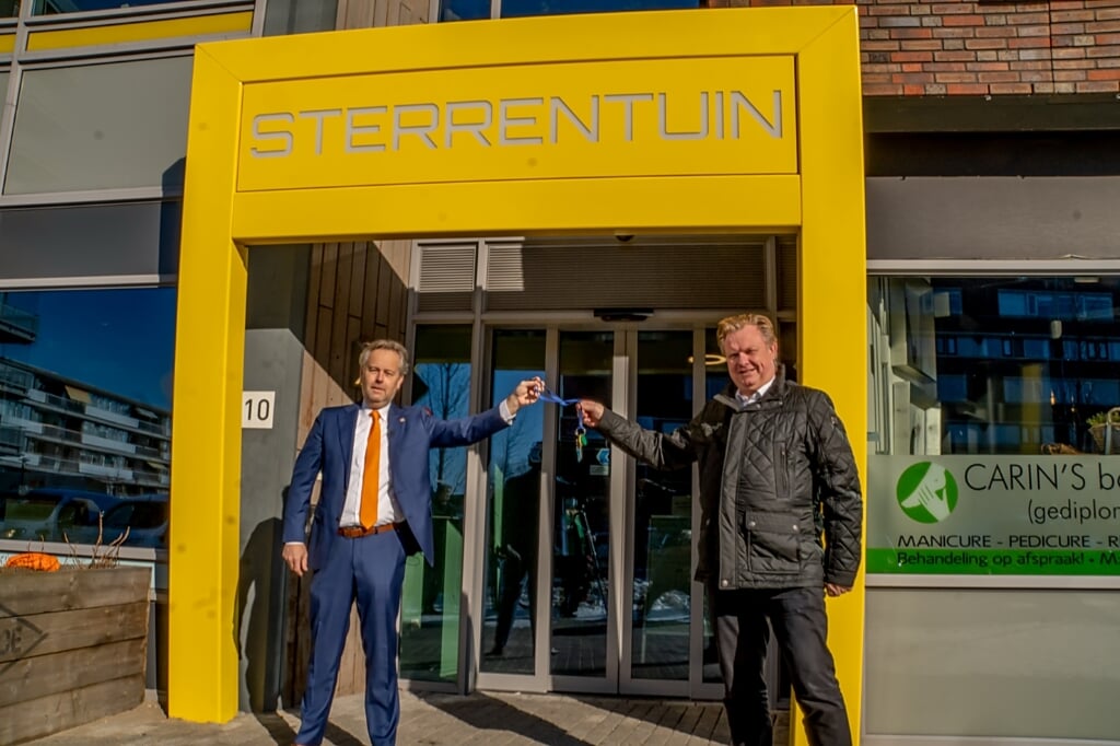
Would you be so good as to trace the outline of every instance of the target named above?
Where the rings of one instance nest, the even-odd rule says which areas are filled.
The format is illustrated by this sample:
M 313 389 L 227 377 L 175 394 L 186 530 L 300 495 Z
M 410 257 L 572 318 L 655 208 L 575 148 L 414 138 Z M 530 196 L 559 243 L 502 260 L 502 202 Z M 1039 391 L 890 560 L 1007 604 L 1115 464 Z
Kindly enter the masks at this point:
M 793 692 L 805 714 L 809 743 L 851 746 L 848 711 L 825 644 L 824 589 L 712 590 L 709 597 L 731 743 L 771 746 L 774 739 L 763 668 L 769 642 L 768 618 L 793 680 Z

